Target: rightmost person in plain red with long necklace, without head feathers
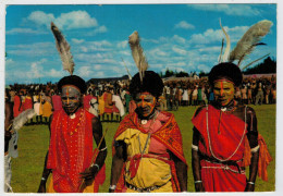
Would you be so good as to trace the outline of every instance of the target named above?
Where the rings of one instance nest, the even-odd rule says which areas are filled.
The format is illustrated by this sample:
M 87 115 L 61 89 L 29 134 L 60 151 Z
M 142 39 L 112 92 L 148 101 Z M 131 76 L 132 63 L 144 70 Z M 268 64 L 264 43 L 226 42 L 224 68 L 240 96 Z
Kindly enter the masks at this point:
M 234 99 L 242 79 L 239 68 L 233 63 L 220 63 L 209 73 L 216 101 L 198 108 L 192 119 L 197 192 L 254 192 L 258 171 L 267 180 L 271 157 L 258 134 L 256 112 Z

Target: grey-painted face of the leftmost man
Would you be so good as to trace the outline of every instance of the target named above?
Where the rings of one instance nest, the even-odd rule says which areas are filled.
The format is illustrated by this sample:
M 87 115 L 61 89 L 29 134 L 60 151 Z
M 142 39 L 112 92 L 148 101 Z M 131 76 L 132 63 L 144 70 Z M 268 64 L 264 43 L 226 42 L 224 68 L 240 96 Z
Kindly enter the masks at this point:
M 81 91 L 77 87 L 71 85 L 62 87 L 62 107 L 66 114 L 72 114 L 79 108 L 81 97 Z

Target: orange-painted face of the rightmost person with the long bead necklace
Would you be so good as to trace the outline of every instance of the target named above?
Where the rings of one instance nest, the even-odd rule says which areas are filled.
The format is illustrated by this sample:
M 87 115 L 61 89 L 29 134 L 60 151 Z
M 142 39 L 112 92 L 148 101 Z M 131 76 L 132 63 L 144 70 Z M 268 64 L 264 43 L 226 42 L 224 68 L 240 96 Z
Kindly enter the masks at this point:
M 234 99 L 234 84 L 227 79 L 219 79 L 213 84 L 216 100 L 221 106 L 226 106 Z

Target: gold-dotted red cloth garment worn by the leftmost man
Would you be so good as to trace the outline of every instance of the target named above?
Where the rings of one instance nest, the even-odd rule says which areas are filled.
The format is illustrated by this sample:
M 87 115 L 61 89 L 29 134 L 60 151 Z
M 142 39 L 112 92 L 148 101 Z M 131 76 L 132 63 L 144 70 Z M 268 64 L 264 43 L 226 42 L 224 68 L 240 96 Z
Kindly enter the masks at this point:
M 76 193 L 79 173 L 91 164 L 94 115 L 78 109 L 71 119 L 64 110 L 53 112 L 47 168 L 52 169 L 53 188 L 58 193 Z M 104 169 L 95 182 L 102 184 Z M 96 187 L 95 187 L 96 189 Z

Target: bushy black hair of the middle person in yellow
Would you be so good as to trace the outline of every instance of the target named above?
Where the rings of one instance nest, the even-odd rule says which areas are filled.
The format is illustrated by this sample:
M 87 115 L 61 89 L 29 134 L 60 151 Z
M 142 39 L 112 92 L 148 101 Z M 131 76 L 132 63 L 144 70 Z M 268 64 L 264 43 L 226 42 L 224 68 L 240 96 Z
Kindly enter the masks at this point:
M 136 94 L 148 91 L 153 97 L 158 98 L 163 91 L 163 82 L 161 77 L 153 71 L 146 71 L 143 83 L 139 78 L 139 73 L 136 73 L 130 84 L 130 94 L 135 98 Z

